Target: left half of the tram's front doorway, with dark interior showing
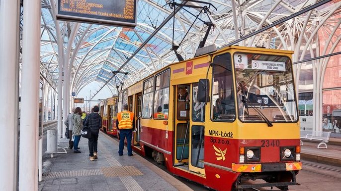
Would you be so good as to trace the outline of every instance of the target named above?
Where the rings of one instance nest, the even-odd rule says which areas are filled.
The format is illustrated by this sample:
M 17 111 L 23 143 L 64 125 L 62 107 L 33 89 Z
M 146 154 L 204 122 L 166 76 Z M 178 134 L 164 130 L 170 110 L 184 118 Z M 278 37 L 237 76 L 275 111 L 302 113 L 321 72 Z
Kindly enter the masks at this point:
M 174 86 L 175 88 L 175 152 L 174 166 L 187 165 L 189 161 L 189 109 L 190 86 L 187 84 Z

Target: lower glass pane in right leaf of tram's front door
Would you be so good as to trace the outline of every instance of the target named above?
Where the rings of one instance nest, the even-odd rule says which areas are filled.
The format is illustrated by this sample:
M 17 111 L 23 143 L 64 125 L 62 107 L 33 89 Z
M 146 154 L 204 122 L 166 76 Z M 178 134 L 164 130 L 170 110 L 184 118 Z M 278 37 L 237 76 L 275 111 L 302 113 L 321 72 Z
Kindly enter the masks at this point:
M 204 168 L 204 126 L 192 126 L 191 164 Z

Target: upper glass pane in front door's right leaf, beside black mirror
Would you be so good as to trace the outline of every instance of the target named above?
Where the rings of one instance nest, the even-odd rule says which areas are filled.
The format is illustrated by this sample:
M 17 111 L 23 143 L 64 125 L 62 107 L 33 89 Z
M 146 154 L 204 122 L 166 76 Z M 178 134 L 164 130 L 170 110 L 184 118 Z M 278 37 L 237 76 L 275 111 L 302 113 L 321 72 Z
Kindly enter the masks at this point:
M 192 121 L 205 121 L 205 102 L 197 100 L 198 84 L 193 84 Z

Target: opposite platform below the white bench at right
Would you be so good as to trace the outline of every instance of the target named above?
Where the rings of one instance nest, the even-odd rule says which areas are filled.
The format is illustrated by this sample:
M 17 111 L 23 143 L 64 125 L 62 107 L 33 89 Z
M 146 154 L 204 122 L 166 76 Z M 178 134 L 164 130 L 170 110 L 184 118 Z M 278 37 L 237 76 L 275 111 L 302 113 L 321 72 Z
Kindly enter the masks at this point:
M 317 148 L 319 143 L 303 140 L 301 159 L 341 167 L 341 138 L 330 138 L 327 148 Z

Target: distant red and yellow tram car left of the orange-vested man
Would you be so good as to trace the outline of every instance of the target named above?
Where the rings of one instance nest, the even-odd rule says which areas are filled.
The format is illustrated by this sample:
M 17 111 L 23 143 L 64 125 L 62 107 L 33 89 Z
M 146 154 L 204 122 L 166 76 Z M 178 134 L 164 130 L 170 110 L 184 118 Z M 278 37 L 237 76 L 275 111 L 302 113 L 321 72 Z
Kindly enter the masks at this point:
M 117 118 L 118 97 L 113 96 L 99 103 L 99 114 L 102 117 L 101 130 L 109 135 L 117 137 L 116 118 Z

